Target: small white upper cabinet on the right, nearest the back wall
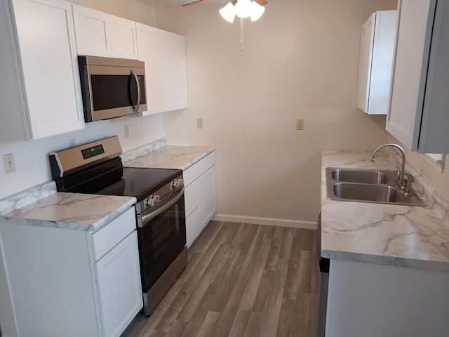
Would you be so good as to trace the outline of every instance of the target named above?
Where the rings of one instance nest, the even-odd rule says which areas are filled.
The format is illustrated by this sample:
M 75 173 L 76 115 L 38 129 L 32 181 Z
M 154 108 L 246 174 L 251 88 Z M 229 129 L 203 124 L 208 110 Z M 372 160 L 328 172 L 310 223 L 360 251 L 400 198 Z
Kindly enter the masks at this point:
M 387 114 L 396 11 L 377 11 L 362 26 L 357 107 L 366 114 Z

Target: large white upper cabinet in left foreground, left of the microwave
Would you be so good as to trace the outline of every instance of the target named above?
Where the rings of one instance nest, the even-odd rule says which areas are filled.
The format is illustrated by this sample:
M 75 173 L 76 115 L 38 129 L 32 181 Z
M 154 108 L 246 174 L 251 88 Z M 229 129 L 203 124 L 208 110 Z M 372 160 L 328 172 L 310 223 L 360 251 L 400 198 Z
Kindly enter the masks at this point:
M 0 5 L 1 138 L 37 139 L 84 127 L 72 5 Z

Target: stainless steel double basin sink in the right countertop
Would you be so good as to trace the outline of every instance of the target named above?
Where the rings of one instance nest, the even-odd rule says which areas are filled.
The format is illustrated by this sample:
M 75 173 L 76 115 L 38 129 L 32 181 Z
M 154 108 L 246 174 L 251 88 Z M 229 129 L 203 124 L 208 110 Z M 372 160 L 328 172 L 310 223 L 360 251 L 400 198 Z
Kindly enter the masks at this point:
M 424 206 L 413 192 L 406 197 L 397 183 L 397 171 L 326 168 L 328 199 Z

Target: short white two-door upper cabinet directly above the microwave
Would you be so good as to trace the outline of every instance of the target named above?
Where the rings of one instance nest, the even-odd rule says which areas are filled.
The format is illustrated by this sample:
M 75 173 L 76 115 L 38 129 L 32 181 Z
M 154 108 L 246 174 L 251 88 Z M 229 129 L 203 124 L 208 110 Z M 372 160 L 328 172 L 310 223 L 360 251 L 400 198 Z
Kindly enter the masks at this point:
M 137 60 L 135 22 L 73 4 L 79 55 Z

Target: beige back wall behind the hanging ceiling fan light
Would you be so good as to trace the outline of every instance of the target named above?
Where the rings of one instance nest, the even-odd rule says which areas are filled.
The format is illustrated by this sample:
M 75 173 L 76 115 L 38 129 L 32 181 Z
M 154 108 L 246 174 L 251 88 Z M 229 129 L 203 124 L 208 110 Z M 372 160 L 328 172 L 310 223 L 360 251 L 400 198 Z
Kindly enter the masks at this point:
M 269 1 L 246 20 L 244 53 L 239 21 L 218 14 L 225 1 L 157 9 L 157 27 L 187 44 L 189 109 L 164 114 L 164 133 L 217 147 L 217 213 L 316 221 L 321 149 L 387 141 L 385 118 L 356 108 L 358 53 L 363 22 L 396 2 Z

